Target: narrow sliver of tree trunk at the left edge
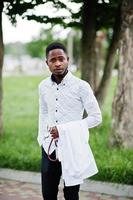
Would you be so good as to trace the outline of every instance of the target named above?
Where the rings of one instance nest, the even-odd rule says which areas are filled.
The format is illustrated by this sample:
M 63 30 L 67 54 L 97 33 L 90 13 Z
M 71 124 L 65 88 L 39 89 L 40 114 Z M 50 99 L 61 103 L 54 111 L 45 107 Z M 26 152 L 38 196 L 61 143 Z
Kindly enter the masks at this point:
M 2 10 L 3 3 L 0 3 L 0 135 L 3 133 L 3 120 L 2 120 L 2 67 L 3 67 L 3 35 L 2 35 Z

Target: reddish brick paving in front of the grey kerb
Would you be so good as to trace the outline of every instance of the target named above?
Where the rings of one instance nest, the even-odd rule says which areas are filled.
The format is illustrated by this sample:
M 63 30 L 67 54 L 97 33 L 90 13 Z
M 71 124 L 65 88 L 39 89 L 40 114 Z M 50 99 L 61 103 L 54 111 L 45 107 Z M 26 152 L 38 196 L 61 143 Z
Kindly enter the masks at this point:
M 131 200 L 133 198 L 80 191 L 80 200 Z M 0 200 L 42 200 L 41 185 L 0 179 Z M 58 200 L 64 200 L 60 188 Z

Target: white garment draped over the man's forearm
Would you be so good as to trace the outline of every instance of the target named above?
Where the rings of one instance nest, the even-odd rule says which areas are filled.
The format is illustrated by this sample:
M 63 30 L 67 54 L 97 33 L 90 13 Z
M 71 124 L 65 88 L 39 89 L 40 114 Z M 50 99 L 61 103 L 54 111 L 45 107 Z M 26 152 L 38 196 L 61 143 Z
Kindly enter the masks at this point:
M 88 144 L 88 126 L 85 120 L 57 125 L 59 132 L 58 159 L 66 186 L 83 183 L 85 178 L 98 172 Z

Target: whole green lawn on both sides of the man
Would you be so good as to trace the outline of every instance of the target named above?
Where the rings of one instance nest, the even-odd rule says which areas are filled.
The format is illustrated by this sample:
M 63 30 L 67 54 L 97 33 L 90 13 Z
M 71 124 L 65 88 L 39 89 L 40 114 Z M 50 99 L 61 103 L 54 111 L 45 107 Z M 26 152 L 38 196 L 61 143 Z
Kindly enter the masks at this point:
M 0 167 L 40 170 L 37 143 L 38 84 L 43 77 L 4 78 L 4 135 L 0 138 Z M 105 106 L 103 123 L 90 130 L 90 144 L 99 173 L 92 178 L 117 183 L 133 183 L 132 150 L 110 149 L 111 104 L 116 85 L 113 78 Z

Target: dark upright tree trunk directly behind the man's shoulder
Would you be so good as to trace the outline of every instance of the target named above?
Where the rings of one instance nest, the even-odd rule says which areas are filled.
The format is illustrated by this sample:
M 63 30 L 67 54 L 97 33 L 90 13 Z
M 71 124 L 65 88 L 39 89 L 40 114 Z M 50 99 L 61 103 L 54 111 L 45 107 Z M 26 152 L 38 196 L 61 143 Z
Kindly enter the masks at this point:
M 96 0 L 84 0 L 82 10 L 81 74 L 82 79 L 94 85 Z

